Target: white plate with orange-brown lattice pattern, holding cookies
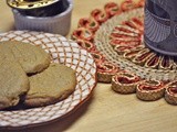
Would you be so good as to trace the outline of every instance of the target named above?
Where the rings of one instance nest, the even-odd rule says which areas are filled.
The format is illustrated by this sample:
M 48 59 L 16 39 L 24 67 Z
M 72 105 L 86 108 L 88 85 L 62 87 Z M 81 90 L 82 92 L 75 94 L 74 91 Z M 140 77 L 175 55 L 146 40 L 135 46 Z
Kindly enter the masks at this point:
M 34 125 L 59 119 L 86 100 L 96 86 L 96 65 L 93 57 L 79 45 L 56 34 L 10 31 L 0 34 L 0 42 L 17 40 L 42 46 L 52 58 L 52 62 L 62 63 L 76 70 L 77 85 L 75 91 L 65 100 L 58 103 L 15 111 L 0 111 L 0 128 L 17 128 Z

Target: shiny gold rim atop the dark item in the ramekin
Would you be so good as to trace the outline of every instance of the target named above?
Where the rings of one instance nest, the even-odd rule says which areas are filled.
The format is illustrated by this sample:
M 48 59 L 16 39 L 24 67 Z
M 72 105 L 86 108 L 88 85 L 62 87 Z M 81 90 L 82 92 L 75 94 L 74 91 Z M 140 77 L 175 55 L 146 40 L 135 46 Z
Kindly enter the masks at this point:
M 53 4 L 60 0 L 7 0 L 11 8 L 29 10 Z

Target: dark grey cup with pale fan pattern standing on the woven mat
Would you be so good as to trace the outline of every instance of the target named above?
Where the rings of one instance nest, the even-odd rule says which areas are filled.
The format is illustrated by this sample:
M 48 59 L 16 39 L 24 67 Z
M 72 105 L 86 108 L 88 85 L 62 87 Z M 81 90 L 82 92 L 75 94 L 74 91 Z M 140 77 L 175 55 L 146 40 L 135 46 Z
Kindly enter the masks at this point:
M 177 56 L 177 0 L 146 0 L 144 41 L 158 53 Z

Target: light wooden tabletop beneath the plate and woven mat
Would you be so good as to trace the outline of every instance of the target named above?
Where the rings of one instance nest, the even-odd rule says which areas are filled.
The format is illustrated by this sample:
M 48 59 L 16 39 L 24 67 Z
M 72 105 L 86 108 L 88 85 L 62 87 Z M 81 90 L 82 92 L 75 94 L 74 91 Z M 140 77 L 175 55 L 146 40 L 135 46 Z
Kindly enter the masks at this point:
M 13 16 L 6 0 L 0 0 L 0 32 L 13 29 Z M 110 0 L 75 0 L 71 32 L 80 18 Z M 112 0 L 121 2 L 123 0 Z M 111 85 L 98 84 L 90 100 L 69 117 L 45 125 L 17 132 L 176 132 L 177 107 L 164 99 L 144 102 L 135 95 L 118 95 Z M 3 132 L 8 132 L 3 130 Z

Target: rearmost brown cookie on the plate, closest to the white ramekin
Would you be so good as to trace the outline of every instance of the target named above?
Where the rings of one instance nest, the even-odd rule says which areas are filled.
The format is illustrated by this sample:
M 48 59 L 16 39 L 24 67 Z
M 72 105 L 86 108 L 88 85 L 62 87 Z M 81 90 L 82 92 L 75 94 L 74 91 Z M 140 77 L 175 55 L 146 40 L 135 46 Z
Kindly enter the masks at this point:
M 17 61 L 27 74 L 40 73 L 50 65 L 49 54 L 39 46 L 18 41 L 0 43 L 0 61 Z

